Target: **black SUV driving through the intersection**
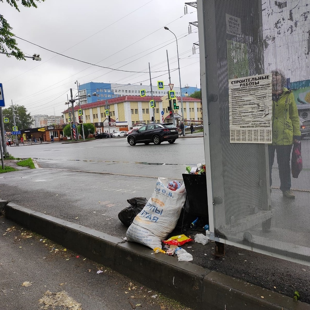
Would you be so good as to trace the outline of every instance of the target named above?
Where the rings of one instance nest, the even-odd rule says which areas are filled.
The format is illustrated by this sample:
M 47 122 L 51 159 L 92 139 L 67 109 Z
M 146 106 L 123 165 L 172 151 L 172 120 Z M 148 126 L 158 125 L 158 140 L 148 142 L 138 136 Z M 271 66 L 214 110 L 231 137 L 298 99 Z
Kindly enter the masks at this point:
M 140 127 L 137 131 L 127 136 L 127 142 L 130 145 L 136 143 L 149 144 L 153 142 L 158 145 L 163 141 L 174 143 L 179 138 L 178 128 L 171 123 L 148 124 Z

